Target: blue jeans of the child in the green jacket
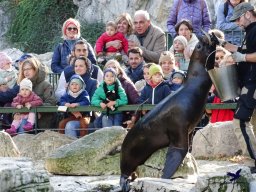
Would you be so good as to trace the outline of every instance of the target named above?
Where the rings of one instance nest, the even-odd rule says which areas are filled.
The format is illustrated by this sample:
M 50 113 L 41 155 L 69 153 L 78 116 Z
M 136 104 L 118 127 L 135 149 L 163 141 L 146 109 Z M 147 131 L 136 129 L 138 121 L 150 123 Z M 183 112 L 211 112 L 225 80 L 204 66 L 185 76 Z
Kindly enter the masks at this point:
M 123 114 L 116 113 L 102 116 L 102 127 L 121 126 L 123 121 Z

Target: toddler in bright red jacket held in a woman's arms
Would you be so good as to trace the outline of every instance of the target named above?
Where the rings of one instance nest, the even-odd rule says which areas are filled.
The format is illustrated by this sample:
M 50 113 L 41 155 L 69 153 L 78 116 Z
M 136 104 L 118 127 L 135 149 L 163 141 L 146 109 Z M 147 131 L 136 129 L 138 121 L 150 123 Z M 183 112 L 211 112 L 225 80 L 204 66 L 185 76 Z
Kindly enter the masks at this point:
M 106 47 L 106 43 L 110 41 L 119 40 L 122 44 L 122 47 L 119 49 L 110 46 Z M 106 24 L 106 32 L 103 33 L 96 41 L 96 54 L 97 56 L 103 56 L 104 52 L 106 56 L 114 55 L 115 53 L 120 53 L 122 50 L 125 54 L 128 53 L 128 41 L 124 35 L 117 31 L 117 25 L 113 21 L 109 21 Z M 104 51 L 106 50 L 106 51 Z

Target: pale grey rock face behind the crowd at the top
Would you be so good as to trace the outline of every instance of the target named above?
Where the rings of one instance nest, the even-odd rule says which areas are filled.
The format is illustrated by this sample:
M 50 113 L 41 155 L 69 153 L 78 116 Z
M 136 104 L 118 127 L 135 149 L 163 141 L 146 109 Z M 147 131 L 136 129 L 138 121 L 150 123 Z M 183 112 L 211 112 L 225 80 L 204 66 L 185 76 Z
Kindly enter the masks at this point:
M 76 17 L 80 21 L 89 23 L 102 21 L 106 23 L 109 20 L 115 20 L 118 15 L 128 12 L 132 16 L 136 10 L 144 9 L 150 14 L 152 23 L 167 31 L 166 21 L 169 16 L 173 0 L 73 0 L 79 7 Z M 219 4 L 223 0 L 207 0 L 210 17 L 213 22 L 212 28 L 216 23 L 216 12 Z M 250 1 L 255 5 L 256 0 Z M 100 11 L 99 11 L 100 10 Z

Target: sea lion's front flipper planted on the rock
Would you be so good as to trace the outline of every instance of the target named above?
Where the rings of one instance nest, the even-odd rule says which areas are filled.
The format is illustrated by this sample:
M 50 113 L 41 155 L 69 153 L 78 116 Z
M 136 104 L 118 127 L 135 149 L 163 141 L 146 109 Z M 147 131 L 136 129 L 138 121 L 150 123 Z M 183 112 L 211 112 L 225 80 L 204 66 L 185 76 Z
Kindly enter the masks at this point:
M 170 179 L 187 154 L 187 149 L 169 147 L 163 169 L 163 179 Z

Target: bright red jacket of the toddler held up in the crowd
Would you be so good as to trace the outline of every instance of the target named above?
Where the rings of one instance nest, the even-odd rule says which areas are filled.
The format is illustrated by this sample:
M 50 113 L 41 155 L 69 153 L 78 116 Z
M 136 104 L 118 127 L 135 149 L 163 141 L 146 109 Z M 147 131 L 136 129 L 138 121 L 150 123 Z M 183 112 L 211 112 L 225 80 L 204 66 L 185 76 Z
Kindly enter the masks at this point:
M 106 52 L 113 52 L 113 53 L 116 53 L 116 52 L 121 52 L 122 50 L 124 50 L 124 52 L 127 54 L 128 53 L 128 41 L 127 39 L 124 37 L 124 35 L 120 32 L 117 32 L 115 35 L 113 36 L 108 36 L 105 33 L 103 33 L 96 41 L 96 53 L 99 53 L 99 52 L 103 52 L 103 49 L 106 45 L 106 43 L 110 42 L 110 41 L 114 41 L 114 40 L 120 40 L 121 41 L 121 44 L 122 44 L 122 47 L 120 47 L 120 49 L 116 49 L 114 47 L 109 47 L 107 48 Z

